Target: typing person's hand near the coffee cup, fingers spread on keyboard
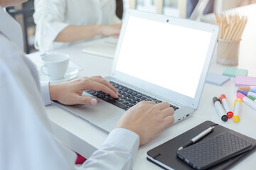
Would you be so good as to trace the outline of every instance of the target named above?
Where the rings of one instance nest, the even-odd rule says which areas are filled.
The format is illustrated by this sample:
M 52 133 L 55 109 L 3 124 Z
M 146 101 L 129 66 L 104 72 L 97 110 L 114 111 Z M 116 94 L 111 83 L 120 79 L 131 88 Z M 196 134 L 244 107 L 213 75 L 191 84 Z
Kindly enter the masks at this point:
M 86 104 L 95 105 L 97 100 L 89 96 L 82 96 L 85 90 L 104 91 L 113 98 L 118 97 L 118 92 L 108 81 L 100 76 L 83 77 L 60 84 L 50 84 L 50 100 L 58 101 L 65 105 Z

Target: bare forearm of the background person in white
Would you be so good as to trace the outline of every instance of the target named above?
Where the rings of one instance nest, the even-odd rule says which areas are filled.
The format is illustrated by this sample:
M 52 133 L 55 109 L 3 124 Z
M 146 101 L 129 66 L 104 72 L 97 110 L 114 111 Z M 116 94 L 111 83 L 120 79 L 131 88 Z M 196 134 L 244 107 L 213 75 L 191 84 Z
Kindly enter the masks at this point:
M 68 26 L 64 28 L 55 38 L 57 42 L 74 42 L 85 40 L 103 34 L 101 25 L 95 26 Z

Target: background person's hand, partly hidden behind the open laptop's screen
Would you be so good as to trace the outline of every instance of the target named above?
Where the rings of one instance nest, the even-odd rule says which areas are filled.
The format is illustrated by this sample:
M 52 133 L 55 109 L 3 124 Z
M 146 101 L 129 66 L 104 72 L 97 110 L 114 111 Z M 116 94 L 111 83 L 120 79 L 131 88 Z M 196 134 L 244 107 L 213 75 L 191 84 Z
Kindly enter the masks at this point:
M 102 26 L 102 34 L 112 38 L 119 38 L 122 23 Z

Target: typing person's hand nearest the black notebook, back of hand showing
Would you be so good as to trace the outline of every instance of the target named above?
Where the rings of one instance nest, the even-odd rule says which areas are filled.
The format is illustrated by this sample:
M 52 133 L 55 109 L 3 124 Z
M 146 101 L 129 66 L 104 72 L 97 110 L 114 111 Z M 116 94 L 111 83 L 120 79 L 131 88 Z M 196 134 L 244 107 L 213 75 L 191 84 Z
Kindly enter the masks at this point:
M 125 128 L 137 133 L 140 145 L 144 145 L 172 123 L 174 108 L 169 103 L 142 101 L 125 112 L 115 128 Z

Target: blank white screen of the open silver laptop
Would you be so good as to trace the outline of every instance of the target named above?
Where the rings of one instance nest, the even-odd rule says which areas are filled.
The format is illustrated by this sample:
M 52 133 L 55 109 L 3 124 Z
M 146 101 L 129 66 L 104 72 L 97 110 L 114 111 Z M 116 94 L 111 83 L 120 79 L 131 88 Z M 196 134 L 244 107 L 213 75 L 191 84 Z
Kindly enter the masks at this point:
M 116 70 L 195 98 L 211 36 L 130 16 Z

